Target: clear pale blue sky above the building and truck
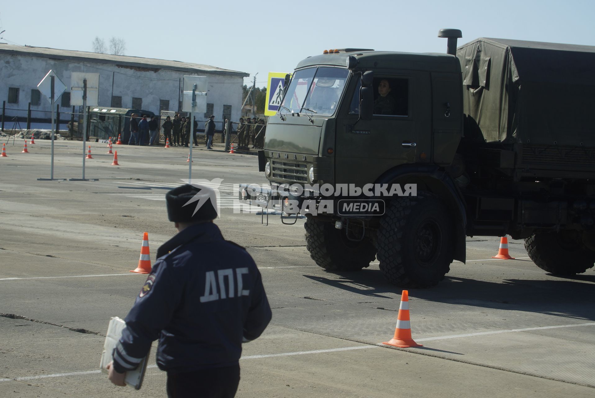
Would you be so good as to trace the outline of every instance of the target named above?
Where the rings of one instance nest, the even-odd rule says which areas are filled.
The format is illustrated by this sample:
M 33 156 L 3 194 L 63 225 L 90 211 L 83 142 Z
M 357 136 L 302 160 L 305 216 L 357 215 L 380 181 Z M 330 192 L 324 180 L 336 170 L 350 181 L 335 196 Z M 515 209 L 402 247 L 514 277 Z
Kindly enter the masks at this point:
M 595 0 L 237 0 L 0 2 L 0 42 L 92 51 L 95 36 L 126 55 L 250 74 L 290 72 L 329 48 L 446 52 L 439 29 L 479 37 L 595 45 Z

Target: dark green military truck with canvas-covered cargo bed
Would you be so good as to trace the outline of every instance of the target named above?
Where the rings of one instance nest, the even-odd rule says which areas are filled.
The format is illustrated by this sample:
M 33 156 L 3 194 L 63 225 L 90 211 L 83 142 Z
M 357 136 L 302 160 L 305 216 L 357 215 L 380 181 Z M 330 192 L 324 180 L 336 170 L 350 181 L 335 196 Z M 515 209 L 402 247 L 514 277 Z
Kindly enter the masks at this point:
M 259 152 L 271 186 L 242 185 L 240 200 L 306 214 L 322 268 L 376 257 L 396 285 L 436 285 L 474 235 L 524 239 L 549 273 L 593 267 L 595 46 L 480 38 L 457 48 L 460 30 L 439 37 L 447 54 L 346 48 L 301 61 Z M 336 206 L 320 209 L 322 189 L 283 184 L 334 186 Z M 353 198 L 369 184 L 417 195 Z M 337 191 L 384 208 L 345 211 Z M 287 210 L 289 200 L 308 207 Z

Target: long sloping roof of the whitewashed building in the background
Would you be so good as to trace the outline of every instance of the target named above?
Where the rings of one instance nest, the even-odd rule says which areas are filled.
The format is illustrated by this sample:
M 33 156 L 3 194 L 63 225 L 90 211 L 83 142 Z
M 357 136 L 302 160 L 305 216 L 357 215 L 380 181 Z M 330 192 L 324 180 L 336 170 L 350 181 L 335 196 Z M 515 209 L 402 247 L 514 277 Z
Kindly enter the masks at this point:
M 130 57 L 129 55 L 99 54 L 98 52 L 74 51 L 47 47 L 20 46 L 0 43 L 0 53 L 32 55 L 61 60 L 84 60 L 107 64 L 136 66 L 145 68 L 174 69 L 180 71 L 217 73 L 247 77 L 249 73 L 223 69 L 216 66 L 193 64 L 189 62 L 158 60 L 156 58 Z

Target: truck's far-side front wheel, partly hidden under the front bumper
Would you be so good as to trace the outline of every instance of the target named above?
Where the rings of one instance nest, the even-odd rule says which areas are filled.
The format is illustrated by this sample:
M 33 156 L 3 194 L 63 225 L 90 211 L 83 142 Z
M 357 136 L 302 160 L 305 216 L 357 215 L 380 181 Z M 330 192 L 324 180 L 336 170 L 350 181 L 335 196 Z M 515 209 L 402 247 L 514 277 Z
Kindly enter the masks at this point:
M 374 261 L 376 249 L 368 238 L 353 242 L 345 231 L 334 228 L 333 223 L 321 222 L 308 216 L 306 248 L 318 266 L 329 271 L 358 271 Z

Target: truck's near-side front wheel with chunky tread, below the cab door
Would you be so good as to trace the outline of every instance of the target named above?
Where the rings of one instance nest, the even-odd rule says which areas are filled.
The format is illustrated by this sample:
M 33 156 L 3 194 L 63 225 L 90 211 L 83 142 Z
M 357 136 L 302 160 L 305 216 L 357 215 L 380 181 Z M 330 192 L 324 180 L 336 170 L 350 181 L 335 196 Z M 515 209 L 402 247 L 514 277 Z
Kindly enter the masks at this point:
M 449 212 L 435 195 L 395 198 L 378 229 L 380 270 L 394 285 L 436 285 L 450 270 L 453 232 Z

